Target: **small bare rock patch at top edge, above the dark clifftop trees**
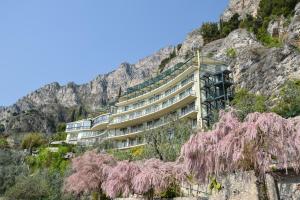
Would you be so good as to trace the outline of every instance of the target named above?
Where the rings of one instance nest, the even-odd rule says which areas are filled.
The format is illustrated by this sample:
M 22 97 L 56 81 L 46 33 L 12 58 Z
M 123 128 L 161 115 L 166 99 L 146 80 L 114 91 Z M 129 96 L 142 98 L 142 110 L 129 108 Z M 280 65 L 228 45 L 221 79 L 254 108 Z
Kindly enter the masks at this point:
M 228 21 L 235 13 L 241 17 L 247 14 L 256 16 L 260 0 L 230 0 L 228 8 L 222 15 L 224 21 Z

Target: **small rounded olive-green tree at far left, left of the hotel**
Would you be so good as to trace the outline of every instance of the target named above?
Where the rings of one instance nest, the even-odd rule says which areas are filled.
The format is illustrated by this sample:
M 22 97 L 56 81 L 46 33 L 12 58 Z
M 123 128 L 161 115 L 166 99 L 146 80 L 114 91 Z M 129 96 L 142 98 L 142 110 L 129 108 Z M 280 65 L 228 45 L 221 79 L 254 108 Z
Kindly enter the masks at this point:
M 28 149 L 30 153 L 32 150 L 42 146 L 46 143 L 45 138 L 40 133 L 30 133 L 24 136 L 22 140 L 22 148 Z

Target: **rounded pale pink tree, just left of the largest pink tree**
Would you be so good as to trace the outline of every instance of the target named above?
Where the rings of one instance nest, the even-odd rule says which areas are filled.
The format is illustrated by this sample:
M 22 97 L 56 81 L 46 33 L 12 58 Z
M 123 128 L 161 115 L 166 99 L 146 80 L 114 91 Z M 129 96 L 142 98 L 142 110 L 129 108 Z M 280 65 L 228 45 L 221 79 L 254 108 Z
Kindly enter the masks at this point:
M 135 193 L 153 199 L 155 193 L 164 192 L 170 186 L 174 186 L 182 178 L 180 170 L 175 166 L 176 163 L 173 162 L 147 160 L 141 165 L 140 173 L 132 180 Z

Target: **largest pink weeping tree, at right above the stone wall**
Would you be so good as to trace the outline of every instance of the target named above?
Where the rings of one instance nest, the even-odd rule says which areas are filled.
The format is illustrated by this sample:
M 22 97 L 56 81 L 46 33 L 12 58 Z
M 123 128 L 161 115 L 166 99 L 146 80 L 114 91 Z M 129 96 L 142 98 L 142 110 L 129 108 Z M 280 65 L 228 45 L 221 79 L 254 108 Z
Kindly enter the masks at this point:
M 274 113 L 252 113 L 241 122 L 231 110 L 220 114 L 212 131 L 193 135 L 181 156 L 186 169 L 201 181 L 250 169 L 263 177 L 272 166 L 298 171 L 300 133 L 294 120 Z

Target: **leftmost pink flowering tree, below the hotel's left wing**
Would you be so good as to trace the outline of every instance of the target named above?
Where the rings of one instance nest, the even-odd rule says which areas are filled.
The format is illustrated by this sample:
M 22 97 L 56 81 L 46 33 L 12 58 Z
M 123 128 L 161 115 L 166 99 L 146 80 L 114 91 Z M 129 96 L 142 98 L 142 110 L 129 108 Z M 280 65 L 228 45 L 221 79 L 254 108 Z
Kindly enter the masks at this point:
M 72 174 L 66 178 L 64 190 L 78 196 L 92 192 L 101 195 L 101 185 L 115 165 L 110 155 L 88 151 L 72 160 Z

